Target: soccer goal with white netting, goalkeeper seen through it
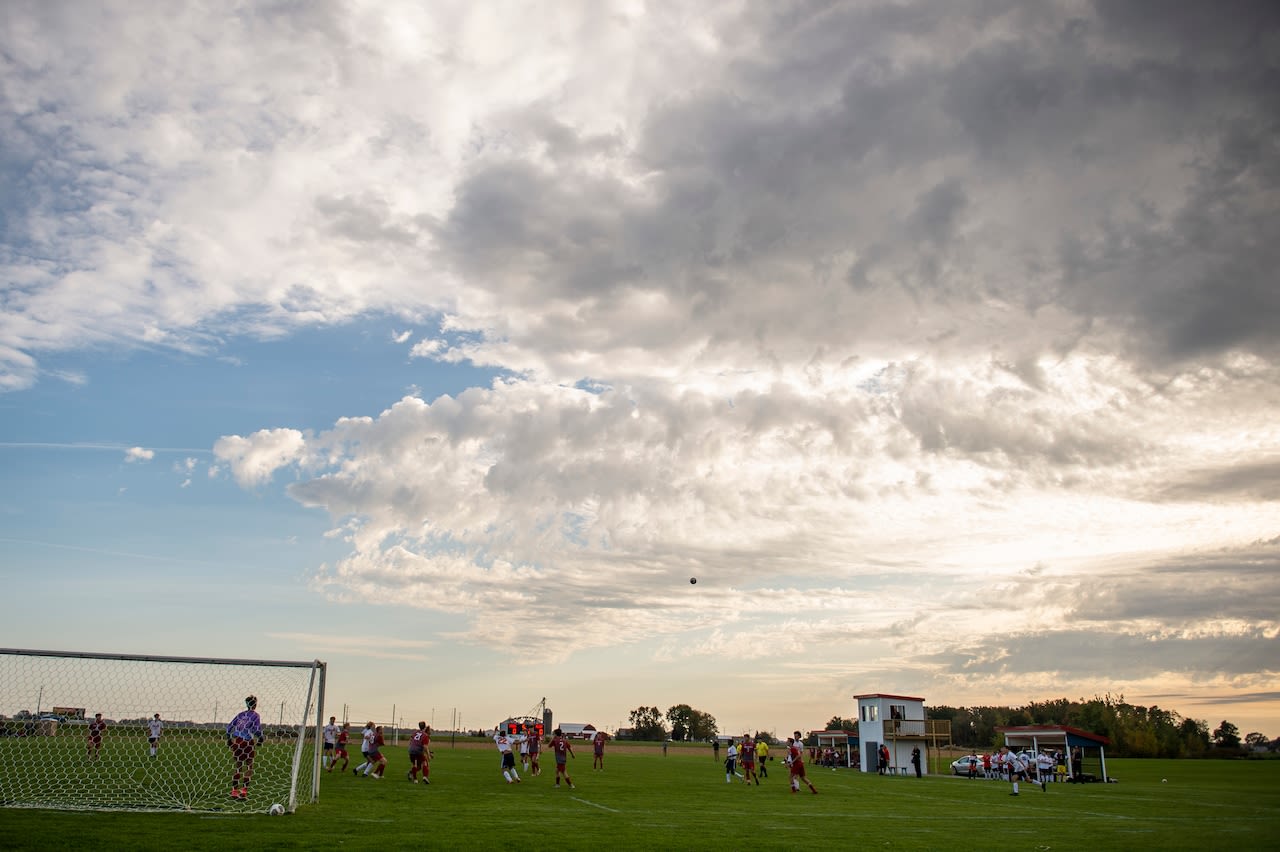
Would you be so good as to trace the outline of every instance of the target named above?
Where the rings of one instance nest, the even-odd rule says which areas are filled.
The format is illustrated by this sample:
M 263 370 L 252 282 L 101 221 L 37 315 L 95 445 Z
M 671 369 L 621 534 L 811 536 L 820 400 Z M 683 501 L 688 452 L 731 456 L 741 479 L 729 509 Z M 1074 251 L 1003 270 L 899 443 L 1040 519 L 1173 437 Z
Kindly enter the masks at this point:
M 324 686 L 319 660 L 0 649 L 0 806 L 293 811 L 320 794 Z

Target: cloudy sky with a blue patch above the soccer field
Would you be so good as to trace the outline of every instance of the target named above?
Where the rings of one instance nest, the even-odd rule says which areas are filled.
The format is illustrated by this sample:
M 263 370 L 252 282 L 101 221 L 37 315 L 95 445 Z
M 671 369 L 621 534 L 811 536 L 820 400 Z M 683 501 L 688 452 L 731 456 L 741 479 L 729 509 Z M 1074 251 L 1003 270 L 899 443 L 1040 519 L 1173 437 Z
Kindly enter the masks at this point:
M 3 643 L 1280 734 L 1277 56 L 1266 0 L 6 3 Z

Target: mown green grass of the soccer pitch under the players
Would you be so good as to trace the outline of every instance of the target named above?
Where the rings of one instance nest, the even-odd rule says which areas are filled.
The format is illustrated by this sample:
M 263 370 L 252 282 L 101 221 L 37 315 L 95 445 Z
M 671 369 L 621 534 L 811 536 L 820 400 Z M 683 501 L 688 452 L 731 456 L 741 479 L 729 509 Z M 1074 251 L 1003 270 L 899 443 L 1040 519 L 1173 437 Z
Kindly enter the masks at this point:
M 570 761 L 576 789 L 540 778 L 507 784 L 490 747 L 438 743 L 431 784 L 404 779 L 388 748 L 383 780 L 321 778 L 320 801 L 296 814 L 127 814 L 0 809 L 6 849 L 1274 849 L 1280 846 L 1280 761 L 1112 760 L 1116 784 L 1023 785 L 946 775 L 881 778 L 810 769 L 819 794 L 791 794 L 771 764 L 759 787 L 724 783 L 707 747 L 611 745 L 605 771 L 590 747 Z M 143 755 L 119 757 L 142 764 Z M 5 768 L 5 771 L 14 771 Z M 17 770 L 20 771 L 20 770 Z M 125 773 L 122 768 L 116 770 Z M 227 773 L 211 782 L 224 784 Z M 1167 778 L 1167 783 L 1161 779 Z M 251 805 L 270 801 L 255 791 Z

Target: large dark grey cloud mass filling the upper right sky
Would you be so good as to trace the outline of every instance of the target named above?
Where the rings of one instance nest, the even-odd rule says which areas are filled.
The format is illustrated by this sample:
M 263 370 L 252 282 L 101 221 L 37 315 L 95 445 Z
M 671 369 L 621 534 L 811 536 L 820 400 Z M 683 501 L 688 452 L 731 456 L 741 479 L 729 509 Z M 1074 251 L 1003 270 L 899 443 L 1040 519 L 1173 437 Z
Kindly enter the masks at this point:
M 1245 12 L 1207 26 L 1203 47 L 1188 33 L 1206 15 L 1157 14 L 1148 29 L 1124 4 L 1080 18 L 1016 4 L 749 13 L 722 37 L 758 50 L 648 111 L 630 155 L 643 191 L 576 165 L 618 138 L 527 114 L 511 129 L 540 139 L 552 168 L 481 164 L 438 232 L 443 256 L 499 289 L 481 272 L 524 267 L 539 297 L 666 292 L 698 311 L 673 342 L 718 329 L 837 342 L 874 327 L 859 317 L 888 319 L 901 289 L 925 315 L 992 292 L 1057 303 L 1148 359 L 1272 353 L 1280 78 L 1258 50 L 1274 15 Z M 1135 174 L 1147 161 L 1174 183 Z M 992 238 L 1005 244 L 983 260 Z M 819 270 L 841 253 L 856 255 L 852 287 L 829 293 Z M 844 327 L 728 298 L 728 280 L 780 274 Z

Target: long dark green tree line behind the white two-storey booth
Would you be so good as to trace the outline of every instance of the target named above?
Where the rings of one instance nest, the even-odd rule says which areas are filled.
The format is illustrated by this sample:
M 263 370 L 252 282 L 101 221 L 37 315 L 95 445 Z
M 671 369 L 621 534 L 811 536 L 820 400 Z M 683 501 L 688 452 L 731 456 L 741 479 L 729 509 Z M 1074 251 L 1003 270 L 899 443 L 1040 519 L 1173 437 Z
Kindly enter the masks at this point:
M 1238 753 L 1242 743 L 1239 728 L 1230 722 L 1222 720 L 1211 732 L 1207 722 L 1157 706 L 1129 704 L 1123 695 L 1106 695 L 1091 701 L 1032 701 L 1020 707 L 940 705 L 928 707 L 927 713 L 929 719 L 948 719 L 952 741 L 973 748 L 998 745 L 996 728 L 1006 725 L 1080 728 L 1110 739 L 1107 753 L 1116 757 L 1201 757 L 1215 751 Z M 1268 741 L 1261 733 L 1251 733 L 1244 742 L 1252 747 Z

